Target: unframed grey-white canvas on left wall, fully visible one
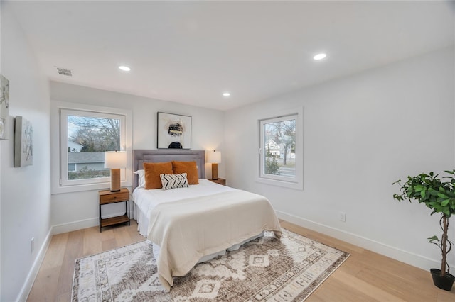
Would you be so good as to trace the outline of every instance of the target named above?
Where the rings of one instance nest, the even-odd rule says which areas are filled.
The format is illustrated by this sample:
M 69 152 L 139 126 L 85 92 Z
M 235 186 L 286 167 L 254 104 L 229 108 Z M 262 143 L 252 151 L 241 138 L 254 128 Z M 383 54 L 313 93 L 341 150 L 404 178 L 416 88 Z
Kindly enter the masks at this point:
M 14 125 L 14 167 L 33 164 L 33 127 L 22 116 L 16 116 Z

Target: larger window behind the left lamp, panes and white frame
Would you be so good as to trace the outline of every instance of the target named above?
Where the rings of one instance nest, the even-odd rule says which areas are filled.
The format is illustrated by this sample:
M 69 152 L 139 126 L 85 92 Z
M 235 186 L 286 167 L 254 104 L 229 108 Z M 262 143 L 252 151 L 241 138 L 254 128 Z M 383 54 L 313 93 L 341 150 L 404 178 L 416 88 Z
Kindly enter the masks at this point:
M 108 187 L 110 170 L 105 168 L 105 151 L 129 151 L 131 113 L 117 108 L 63 102 L 56 102 L 52 110 L 58 113 L 58 117 L 51 119 L 51 126 L 58 125 L 58 129 L 52 129 L 53 141 L 58 142 L 53 145 L 58 147 L 60 158 L 60 161 L 51 162 L 53 193 Z M 53 156 L 57 155 L 56 150 L 53 148 Z M 122 186 L 131 182 L 128 169 L 131 164 L 127 169 L 121 169 Z

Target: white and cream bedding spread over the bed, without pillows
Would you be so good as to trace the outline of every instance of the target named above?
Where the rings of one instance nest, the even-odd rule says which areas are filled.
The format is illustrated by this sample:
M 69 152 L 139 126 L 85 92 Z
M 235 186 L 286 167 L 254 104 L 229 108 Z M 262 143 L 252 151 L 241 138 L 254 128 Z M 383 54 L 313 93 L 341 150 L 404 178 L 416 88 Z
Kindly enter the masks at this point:
M 150 219 L 148 239 L 161 247 L 157 266 L 166 290 L 171 289 L 173 276 L 186 275 L 206 255 L 264 230 L 281 235 L 267 198 L 208 182 L 200 179 L 200 184 L 191 188 L 146 190 L 146 194 L 158 198 L 154 204 L 146 202 L 144 194 L 134 195 L 134 201 Z M 182 192 L 186 198 L 182 199 Z

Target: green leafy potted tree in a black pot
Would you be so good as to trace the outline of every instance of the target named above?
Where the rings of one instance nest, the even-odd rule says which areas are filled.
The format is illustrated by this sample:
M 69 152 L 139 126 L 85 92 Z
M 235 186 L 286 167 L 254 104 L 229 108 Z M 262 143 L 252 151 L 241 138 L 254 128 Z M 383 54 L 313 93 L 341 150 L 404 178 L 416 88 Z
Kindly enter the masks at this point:
M 429 243 L 437 245 L 441 250 L 441 269 L 430 269 L 433 277 L 433 283 L 440 289 L 450 291 L 455 281 L 455 276 L 450 274 L 450 267 L 447 264 L 447 254 L 450 252 L 452 242 L 447 237 L 449 230 L 449 218 L 455 213 L 455 169 L 446 171 L 448 176 L 442 179 L 439 174 L 429 172 L 429 174 L 419 174 L 415 177 L 407 177 L 407 181 L 401 184 L 401 180 L 395 181 L 393 184 L 400 185 L 400 194 L 393 194 L 393 198 L 397 201 L 404 199 L 412 202 L 413 200 L 419 203 L 425 203 L 425 206 L 432 209 L 431 215 L 440 213 L 441 219 L 439 225 L 442 229 L 442 236 L 436 235 L 429 237 Z

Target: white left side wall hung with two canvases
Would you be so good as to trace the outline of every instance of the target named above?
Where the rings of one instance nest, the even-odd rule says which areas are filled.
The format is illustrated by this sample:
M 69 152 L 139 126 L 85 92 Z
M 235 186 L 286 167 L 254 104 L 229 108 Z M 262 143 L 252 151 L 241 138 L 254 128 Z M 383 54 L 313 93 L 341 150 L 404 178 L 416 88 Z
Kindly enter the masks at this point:
M 1 1 L 1 74 L 10 82 L 9 139 L 1 150 L 1 301 L 25 300 L 50 231 L 48 81 L 16 22 Z M 33 125 L 33 165 L 13 167 L 15 116 Z M 31 238 L 35 248 L 31 252 Z

